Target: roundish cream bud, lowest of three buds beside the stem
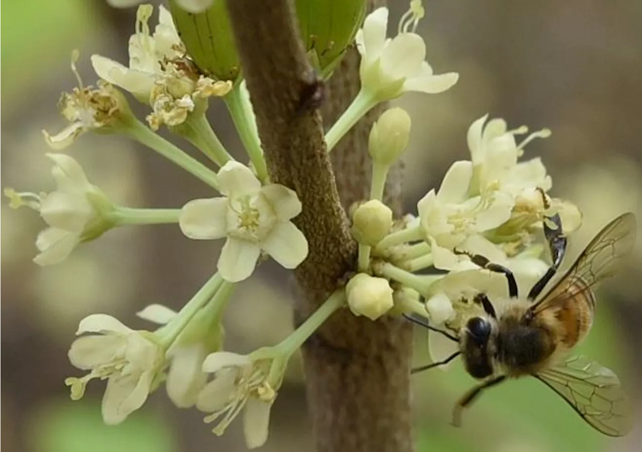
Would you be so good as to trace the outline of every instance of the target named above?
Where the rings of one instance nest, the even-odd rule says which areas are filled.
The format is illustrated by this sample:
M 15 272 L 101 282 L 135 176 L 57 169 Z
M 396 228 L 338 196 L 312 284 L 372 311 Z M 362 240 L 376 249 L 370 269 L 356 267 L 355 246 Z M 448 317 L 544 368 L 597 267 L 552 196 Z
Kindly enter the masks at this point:
M 376 320 L 394 306 L 392 288 L 385 278 L 360 273 L 352 277 L 345 290 L 348 306 L 354 315 Z

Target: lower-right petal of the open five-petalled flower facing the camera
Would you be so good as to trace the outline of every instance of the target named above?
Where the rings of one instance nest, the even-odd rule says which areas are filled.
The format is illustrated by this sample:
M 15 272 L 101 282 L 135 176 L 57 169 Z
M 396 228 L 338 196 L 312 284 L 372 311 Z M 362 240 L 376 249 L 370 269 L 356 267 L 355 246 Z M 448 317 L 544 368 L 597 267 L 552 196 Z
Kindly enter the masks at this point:
M 261 248 L 285 268 L 296 268 L 308 257 L 308 240 L 292 222 L 277 223 Z

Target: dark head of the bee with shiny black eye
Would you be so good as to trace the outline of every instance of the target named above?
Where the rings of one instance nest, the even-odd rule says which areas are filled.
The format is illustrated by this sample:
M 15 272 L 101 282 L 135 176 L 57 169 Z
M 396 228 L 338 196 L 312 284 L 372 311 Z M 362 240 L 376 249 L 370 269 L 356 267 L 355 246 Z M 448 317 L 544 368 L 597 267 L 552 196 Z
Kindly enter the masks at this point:
M 474 378 L 486 378 L 492 375 L 492 332 L 495 328 L 490 318 L 473 317 L 466 323 L 460 343 L 464 365 Z

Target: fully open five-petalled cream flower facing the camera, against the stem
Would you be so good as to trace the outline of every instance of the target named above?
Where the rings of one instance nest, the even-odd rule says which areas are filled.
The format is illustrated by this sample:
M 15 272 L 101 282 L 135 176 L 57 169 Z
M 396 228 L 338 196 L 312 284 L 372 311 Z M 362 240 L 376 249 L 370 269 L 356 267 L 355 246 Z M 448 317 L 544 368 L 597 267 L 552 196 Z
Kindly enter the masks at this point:
M 220 169 L 218 183 L 224 196 L 188 202 L 179 225 L 189 238 L 227 237 L 218 259 L 224 279 L 249 277 L 261 250 L 285 268 L 297 267 L 308 256 L 308 241 L 290 221 L 301 212 L 295 191 L 279 184 L 261 186 L 254 173 L 236 161 Z

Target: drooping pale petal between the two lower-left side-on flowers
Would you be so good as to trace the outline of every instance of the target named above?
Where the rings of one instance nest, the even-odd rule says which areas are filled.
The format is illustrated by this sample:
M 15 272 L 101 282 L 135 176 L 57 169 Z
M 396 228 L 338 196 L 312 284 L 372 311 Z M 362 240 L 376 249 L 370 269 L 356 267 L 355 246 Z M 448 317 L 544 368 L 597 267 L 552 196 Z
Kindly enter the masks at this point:
M 178 408 L 195 404 L 198 392 L 205 386 L 207 374 L 202 367 L 206 353 L 202 343 L 173 349 L 165 387 L 169 399 Z

